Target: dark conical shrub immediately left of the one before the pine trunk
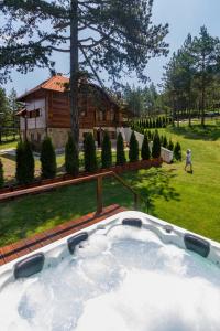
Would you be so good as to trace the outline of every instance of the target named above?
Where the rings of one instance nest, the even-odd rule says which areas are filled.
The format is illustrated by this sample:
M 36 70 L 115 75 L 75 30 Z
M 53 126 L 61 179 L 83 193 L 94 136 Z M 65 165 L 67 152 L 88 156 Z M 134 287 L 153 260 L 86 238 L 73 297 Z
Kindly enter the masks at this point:
M 50 137 L 45 137 L 41 149 L 41 171 L 43 179 L 56 177 L 56 154 Z

